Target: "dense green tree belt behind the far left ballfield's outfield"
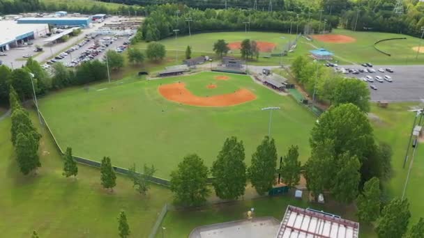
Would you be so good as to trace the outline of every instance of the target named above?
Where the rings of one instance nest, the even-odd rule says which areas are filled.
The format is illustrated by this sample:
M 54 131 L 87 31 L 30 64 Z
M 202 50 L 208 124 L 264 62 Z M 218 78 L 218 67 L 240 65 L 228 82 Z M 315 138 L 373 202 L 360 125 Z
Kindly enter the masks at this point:
M 178 13 L 178 14 L 176 14 Z M 190 22 L 188 22 L 190 21 Z M 256 31 L 288 31 L 298 26 L 299 33 L 310 26 L 311 31 L 319 29 L 319 22 L 307 13 L 262 12 L 229 8 L 227 10 L 199 10 L 176 4 L 152 6 L 149 16 L 140 27 L 142 39 L 147 42 L 167 38 L 179 29 L 180 34 L 202 31 L 244 31 L 245 23 L 250 22 L 249 29 Z M 188 24 L 189 23 L 189 24 Z M 336 23 L 337 24 L 337 23 Z M 333 22 L 328 21 L 326 29 L 331 29 Z M 322 29 L 322 27 L 321 27 Z

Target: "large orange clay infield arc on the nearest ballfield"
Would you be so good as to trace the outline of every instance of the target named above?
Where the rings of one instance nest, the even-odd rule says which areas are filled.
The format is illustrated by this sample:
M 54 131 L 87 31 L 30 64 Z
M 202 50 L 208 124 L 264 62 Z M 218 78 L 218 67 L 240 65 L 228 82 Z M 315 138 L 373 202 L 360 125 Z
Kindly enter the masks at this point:
M 256 99 L 256 95 L 245 88 L 229 94 L 199 97 L 185 88 L 184 83 L 162 85 L 159 87 L 159 93 L 167 100 L 192 106 L 234 106 Z

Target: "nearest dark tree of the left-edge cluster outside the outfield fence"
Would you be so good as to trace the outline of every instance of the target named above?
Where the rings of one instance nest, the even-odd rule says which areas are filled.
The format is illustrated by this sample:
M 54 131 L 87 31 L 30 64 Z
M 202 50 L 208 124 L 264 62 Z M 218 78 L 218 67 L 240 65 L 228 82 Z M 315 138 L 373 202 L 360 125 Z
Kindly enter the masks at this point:
M 17 164 L 24 175 L 41 167 L 37 154 L 36 139 L 31 134 L 17 134 L 15 145 Z

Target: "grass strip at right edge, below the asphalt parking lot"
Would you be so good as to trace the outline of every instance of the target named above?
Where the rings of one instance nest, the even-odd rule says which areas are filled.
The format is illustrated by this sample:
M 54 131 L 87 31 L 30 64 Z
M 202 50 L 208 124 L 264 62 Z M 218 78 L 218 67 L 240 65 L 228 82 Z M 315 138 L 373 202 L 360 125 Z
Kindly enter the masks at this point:
M 374 134 L 381 141 L 391 144 L 393 149 L 392 166 L 393 178 L 388 182 L 388 193 L 390 196 L 401 197 L 404 188 L 404 182 L 407 177 L 409 162 L 402 168 L 402 164 L 407 150 L 409 135 L 411 134 L 412 122 L 414 122 L 415 113 L 407 111 L 409 106 L 417 105 L 411 103 L 390 104 L 388 109 L 381 109 L 372 104 L 372 113 L 379 116 L 380 120 L 374 120 Z M 418 120 L 417 120 L 418 122 Z M 411 146 L 411 145 L 409 145 Z M 412 149 L 412 148 L 411 148 Z M 409 161 L 411 159 L 412 150 L 409 150 Z M 424 214 L 424 148 L 423 145 L 418 146 L 415 154 L 414 164 L 411 169 L 409 183 L 406 191 L 412 217 L 410 222 L 415 223 L 420 216 Z

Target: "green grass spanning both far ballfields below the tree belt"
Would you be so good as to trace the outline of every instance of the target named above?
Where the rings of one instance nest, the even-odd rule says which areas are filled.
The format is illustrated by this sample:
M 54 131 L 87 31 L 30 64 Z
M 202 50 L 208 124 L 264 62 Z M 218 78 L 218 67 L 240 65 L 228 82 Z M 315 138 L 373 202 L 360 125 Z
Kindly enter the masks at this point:
M 309 42 L 305 38 L 299 38 L 298 45 L 296 50 L 293 53 L 289 53 L 288 56 L 282 57 L 282 63 L 288 64 L 299 55 L 308 55 L 311 49 L 315 47 L 324 47 L 328 50 L 331 50 L 335 53 L 336 56 L 340 58 L 335 58 L 339 64 L 351 64 L 354 63 L 364 63 L 370 61 L 371 63 L 377 65 L 414 65 L 414 64 L 424 64 L 424 54 L 421 54 L 418 57 L 418 60 L 415 59 L 416 51 L 412 47 L 419 45 L 419 38 L 414 38 L 409 35 L 394 34 L 394 33 L 379 33 L 379 32 L 355 32 L 348 31 L 343 29 L 335 29 L 333 34 L 348 35 L 356 39 L 356 42 L 346 43 L 346 44 L 334 44 L 334 43 L 325 43 L 319 40 L 314 40 Z M 282 39 L 281 37 L 284 37 Z M 386 38 L 402 38 L 406 37 L 407 40 L 391 40 L 386 42 L 381 42 L 377 47 L 383 51 L 386 51 L 392 56 L 386 56 L 381 54 L 379 51 L 374 49 L 374 42 L 378 40 L 383 40 Z M 257 41 L 267 41 L 273 42 L 277 45 L 274 53 L 280 53 L 283 45 L 286 45 L 289 40 L 294 40 L 295 35 L 290 35 L 287 33 L 270 33 L 270 32 L 257 32 L 251 31 L 250 33 L 245 33 L 244 31 L 235 31 L 235 32 L 216 32 L 216 33 L 198 33 L 194 34 L 191 37 L 188 35 L 183 35 L 175 38 L 166 38 L 160 40 L 160 42 L 165 45 L 167 51 L 179 50 L 181 55 L 184 54 L 185 47 L 190 45 L 192 51 L 211 55 L 213 54 L 213 43 L 218 39 L 224 39 L 227 42 L 236 42 L 244 40 L 245 38 L 250 38 L 251 40 Z M 311 45 L 312 44 L 312 45 Z M 147 46 L 146 42 L 140 42 L 135 47 L 145 49 Z M 234 56 L 240 56 L 239 51 L 233 52 Z M 263 52 L 259 56 L 258 61 L 252 61 L 252 65 L 279 65 L 280 57 L 271 57 L 264 58 L 263 56 L 268 56 L 270 53 Z M 230 54 L 231 55 L 231 54 Z

